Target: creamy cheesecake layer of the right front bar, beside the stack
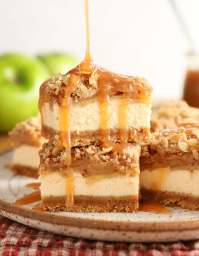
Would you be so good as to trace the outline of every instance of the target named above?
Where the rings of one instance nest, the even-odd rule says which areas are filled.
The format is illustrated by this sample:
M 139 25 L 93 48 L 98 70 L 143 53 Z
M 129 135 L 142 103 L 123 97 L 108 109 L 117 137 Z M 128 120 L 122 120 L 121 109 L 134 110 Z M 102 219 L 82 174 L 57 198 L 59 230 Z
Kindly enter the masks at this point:
M 140 172 L 141 189 L 154 189 L 162 192 L 185 193 L 199 196 L 199 170 L 177 170 L 157 168 Z

